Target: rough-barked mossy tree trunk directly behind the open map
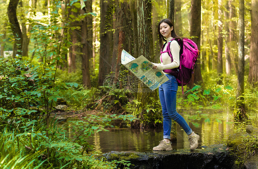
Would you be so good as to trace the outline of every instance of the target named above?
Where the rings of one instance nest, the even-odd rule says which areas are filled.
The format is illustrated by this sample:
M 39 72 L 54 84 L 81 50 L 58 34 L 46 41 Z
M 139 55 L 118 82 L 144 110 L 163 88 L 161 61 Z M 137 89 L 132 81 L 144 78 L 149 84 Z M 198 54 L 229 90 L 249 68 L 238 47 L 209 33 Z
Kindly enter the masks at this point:
M 138 32 L 138 48 L 139 53 L 135 54 L 135 56 L 143 55 L 148 60 L 154 60 L 153 54 L 153 41 L 152 41 L 152 20 L 150 19 L 152 16 L 152 2 L 151 0 L 142 0 L 137 1 L 137 32 Z M 134 115 L 138 116 L 143 120 L 143 116 L 149 116 L 149 118 L 155 118 L 152 116 L 152 110 L 147 111 L 147 105 L 153 105 L 153 100 L 157 101 L 158 96 L 156 91 L 150 90 L 144 83 L 138 83 L 137 90 L 137 102 L 140 104 L 136 104 L 136 109 L 134 111 Z M 158 108 L 154 106 L 155 108 Z M 154 120 L 154 119 L 152 119 Z M 154 124 L 154 121 L 152 121 Z M 151 127 L 153 124 L 143 124 L 144 127 Z

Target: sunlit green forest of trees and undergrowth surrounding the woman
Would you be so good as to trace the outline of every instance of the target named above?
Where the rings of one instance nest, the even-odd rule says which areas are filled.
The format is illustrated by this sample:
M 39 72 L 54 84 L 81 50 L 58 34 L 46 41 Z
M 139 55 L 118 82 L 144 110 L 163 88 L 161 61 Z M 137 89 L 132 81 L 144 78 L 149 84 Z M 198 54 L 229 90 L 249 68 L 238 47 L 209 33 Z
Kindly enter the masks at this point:
M 118 128 L 162 129 L 158 89 L 128 71 L 121 53 L 160 63 L 165 18 L 199 49 L 177 111 L 203 137 L 214 124 L 201 145 L 226 144 L 227 130 L 258 125 L 257 0 L 0 2 L 0 168 L 130 168 L 89 140 Z M 172 121 L 171 141 L 179 130 Z M 258 156 L 257 137 L 241 139 L 235 164 Z

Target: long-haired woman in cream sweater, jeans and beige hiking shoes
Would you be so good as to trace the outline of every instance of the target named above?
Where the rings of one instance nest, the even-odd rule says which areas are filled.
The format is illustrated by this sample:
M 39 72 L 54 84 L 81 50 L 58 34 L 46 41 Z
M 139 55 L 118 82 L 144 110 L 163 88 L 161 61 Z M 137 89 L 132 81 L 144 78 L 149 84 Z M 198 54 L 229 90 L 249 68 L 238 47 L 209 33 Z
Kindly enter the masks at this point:
M 174 30 L 173 22 L 170 19 L 162 19 L 158 24 L 158 34 L 159 34 L 159 44 L 162 48 L 163 41 L 167 41 L 162 51 L 165 51 L 167 48 L 168 42 L 173 39 L 181 39 L 181 37 L 176 35 Z M 153 63 L 153 69 L 156 70 L 165 70 L 165 69 L 174 69 L 179 67 L 179 51 L 180 46 L 176 40 L 173 40 L 170 43 L 170 51 L 173 56 L 173 61 L 171 60 L 167 52 L 162 53 L 160 60 L 161 63 Z M 188 141 L 190 142 L 190 150 L 196 149 L 198 146 L 199 135 L 195 134 L 189 125 L 186 123 L 184 118 L 178 114 L 176 111 L 176 93 L 178 89 L 178 84 L 176 81 L 177 73 L 165 73 L 169 80 L 163 83 L 159 87 L 159 97 L 161 101 L 162 114 L 163 114 L 163 130 L 164 136 L 163 140 L 160 141 L 160 144 L 156 147 L 153 147 L 153 150 L 172 150 L 170 142 L 170 131 L 171 131 L 171 119 L 175 120 L 188 135 Z

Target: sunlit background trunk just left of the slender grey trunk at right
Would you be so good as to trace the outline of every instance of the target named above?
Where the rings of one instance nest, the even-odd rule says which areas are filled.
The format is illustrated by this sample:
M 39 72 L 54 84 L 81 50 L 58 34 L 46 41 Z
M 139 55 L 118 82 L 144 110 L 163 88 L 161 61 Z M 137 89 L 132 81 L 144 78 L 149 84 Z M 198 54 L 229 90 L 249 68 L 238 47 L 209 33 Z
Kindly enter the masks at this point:
M 234 6 L 234 2 L 232 0 L 229 0 L 229 54 L 231 59 L 231 64 L 235 70 L 235 73 L 237 73 L 237 51 L 234 51 L 233 49 L 236 48 L 237 44 L 237 35 L 236 35 L 236 10 Z

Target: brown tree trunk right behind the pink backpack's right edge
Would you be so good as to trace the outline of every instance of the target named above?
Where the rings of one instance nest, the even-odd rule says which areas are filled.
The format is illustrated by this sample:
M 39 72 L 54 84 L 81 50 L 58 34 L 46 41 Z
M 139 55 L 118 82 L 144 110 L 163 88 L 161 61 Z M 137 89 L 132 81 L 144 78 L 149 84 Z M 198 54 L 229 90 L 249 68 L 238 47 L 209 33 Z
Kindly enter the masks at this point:
M 196 43 L 198 49 L 201 49 L 201 0 L 191 0 L 191 30 L 190 36 L 195 36 L 193 42 Z M 201 52 L 199 52 L 199 55 Z M 192 79 L 190 82 L 190 88 L 193 87 L 193 83 L 202 83 L 202 74 L 201 74 L 201 61 L 200 56 L 198 56 L 196 62 L 196 69 L 192 74 Z

